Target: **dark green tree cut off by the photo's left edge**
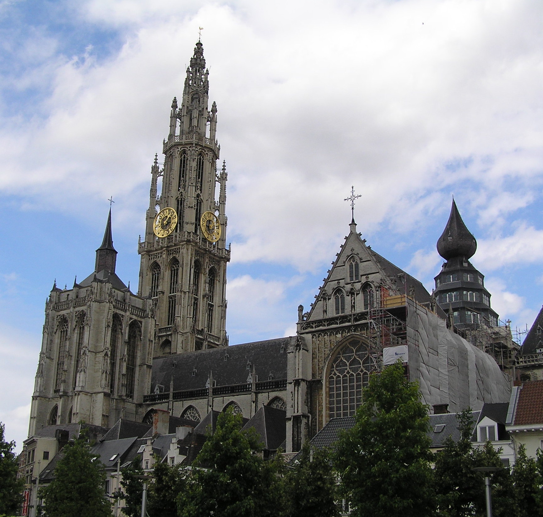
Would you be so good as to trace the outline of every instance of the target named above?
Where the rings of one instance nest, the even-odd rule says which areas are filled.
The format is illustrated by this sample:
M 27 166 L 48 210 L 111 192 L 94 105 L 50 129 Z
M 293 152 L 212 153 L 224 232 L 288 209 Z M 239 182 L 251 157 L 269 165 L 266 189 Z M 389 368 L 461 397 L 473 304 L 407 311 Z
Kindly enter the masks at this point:
M 15 442 L 6 442 L 4 431 L 5 425 L 0 422 L 0 515 L 15 515 L 22 502 L 24 480 L 17 479 Z

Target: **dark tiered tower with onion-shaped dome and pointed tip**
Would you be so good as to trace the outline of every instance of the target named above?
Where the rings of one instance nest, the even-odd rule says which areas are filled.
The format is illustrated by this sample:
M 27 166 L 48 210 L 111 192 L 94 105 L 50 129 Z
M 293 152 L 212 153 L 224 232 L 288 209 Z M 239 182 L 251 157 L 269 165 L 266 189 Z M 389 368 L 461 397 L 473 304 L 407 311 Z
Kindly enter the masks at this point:
M 437 248 L 446 260 L 434 278 L 439 307 L 447 314 L 452 312 L 453 323 L 458 328 L 470 329 L 481 324 L 497 327 L 498 315 L 490 308 L 484 276 L 469 261 L 477 250 L 477 241 L 466 228 L 454 200 Z

